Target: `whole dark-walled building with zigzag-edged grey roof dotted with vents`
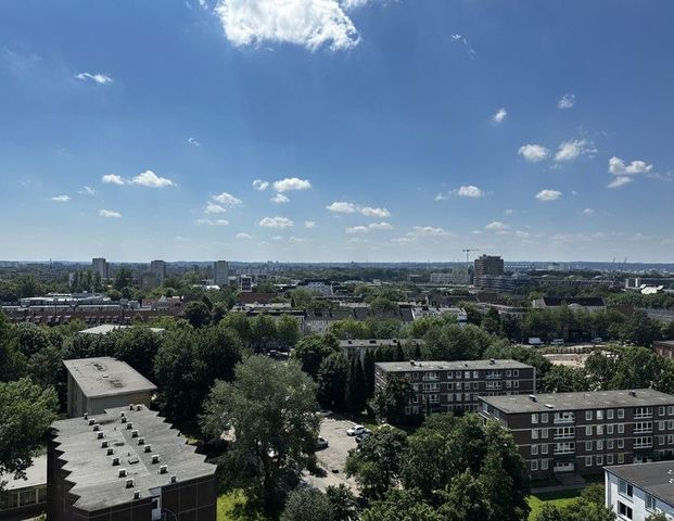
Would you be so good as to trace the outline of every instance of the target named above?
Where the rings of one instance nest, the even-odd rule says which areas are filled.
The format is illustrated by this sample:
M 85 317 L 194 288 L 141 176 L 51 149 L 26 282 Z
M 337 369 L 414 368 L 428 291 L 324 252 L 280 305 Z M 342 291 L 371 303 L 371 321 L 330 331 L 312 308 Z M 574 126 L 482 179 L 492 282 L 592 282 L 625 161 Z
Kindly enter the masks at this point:
M 142 405 L 52 423 L 50 521 L 215 521 L 215 465 Z

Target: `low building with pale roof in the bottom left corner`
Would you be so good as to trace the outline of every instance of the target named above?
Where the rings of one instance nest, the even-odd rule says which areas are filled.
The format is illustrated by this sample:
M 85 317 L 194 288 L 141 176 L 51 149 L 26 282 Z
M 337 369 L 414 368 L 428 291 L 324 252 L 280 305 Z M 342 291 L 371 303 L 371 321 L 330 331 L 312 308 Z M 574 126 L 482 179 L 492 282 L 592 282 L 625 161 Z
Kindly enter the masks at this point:
M 0 475 L 0 518 L 30 519 L 47 507 L 47 456 L 33 458 L 25 478 Z

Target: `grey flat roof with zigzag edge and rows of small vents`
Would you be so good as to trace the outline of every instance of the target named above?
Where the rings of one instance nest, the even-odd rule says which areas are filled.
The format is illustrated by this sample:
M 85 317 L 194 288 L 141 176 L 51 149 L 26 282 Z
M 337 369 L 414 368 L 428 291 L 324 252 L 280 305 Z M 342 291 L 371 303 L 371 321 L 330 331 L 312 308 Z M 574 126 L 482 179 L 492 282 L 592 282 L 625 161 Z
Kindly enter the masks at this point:
M 137 410 L 139 408 L 140 410 Z M 123 423 L 122 414 L 126 417 Z M 100 425 L 94 431 L 90 420 Z M 131 425 L 129 429 L 128 425 Z M 93 511 L 133 500 L 133 492 L 140 491 L 140 497 L 149 497 L 150 490 L 170 483 L 207 478 L 215 473 L 215 465 L 206 463 L 205 456 L 195 454 L 195 447 L 186 444 L 186 440 L 171 428 L 156 411 L 145 406 L 115 407 L 103 415 L 92 415 L 89 419 L 72 418 L 52 423 L 52 435 L 64 461 L 63 470 L 71 472 L 67 482 L 73 483 L 68 491 L 78 496 L 74 506 Z M 138 437 L 132 432 L 138 431 Z M 99 440 L 98 432 L 103 433 Z M 139 445 L 139 440 L 143 444 Z M 101 442 L 107 442 L 107 448 Z M 150 452 L 145 447 L 150 445 Z M 152 462 L 152 456 L 160 460 Z M 119 458 L 119 465 L 113 466 L 113 458 Z M 160 473 L 161 466 L 166 465 L 166 473 Z M 119 476 L 119 469 L 126 469 L 126 476 Z M 126 480 L 133 479 L 133 486 L 126 486 Z

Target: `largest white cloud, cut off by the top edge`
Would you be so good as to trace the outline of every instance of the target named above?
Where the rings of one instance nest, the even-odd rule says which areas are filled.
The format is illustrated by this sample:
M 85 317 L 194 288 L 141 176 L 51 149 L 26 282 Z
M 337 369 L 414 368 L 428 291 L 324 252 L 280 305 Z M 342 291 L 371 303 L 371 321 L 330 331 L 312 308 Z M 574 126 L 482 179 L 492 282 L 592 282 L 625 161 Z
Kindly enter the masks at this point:
M 309 50 L 351 49 L 359 37 L 346 14 L 365 0 L 219 0 L 215 13 L 234 46 L 294 43 Z

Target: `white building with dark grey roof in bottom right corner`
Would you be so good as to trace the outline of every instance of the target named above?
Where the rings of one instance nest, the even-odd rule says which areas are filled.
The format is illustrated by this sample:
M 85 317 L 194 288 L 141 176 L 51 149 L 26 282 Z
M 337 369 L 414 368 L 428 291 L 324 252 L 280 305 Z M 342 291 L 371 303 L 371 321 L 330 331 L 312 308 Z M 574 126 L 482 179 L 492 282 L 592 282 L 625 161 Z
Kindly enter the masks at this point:
M 618 520 L 646 521 L 662 511 L 674 520 L 674 461 L 606 467 L 606 506 Z

